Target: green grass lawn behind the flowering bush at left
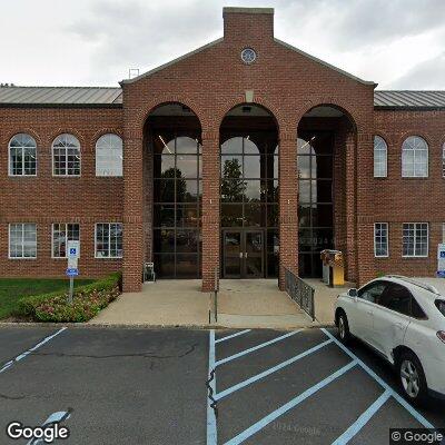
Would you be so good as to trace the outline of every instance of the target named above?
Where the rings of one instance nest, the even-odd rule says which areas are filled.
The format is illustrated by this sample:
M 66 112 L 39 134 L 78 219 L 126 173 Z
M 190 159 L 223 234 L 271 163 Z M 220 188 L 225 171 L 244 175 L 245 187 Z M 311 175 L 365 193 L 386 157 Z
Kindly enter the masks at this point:
M 93 283 L 93 279 L 75 279 L 75 287 Z M 19 299 L 29 295 L 68 290 L 68 279 L 0 278 L 0 319 L 8 318 L 18 309 Z

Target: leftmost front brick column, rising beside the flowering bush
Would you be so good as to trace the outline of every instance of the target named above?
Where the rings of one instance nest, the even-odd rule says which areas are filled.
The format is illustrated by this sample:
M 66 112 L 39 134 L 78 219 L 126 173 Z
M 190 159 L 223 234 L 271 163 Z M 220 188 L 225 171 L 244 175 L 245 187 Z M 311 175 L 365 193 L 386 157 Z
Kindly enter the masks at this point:
M 123 136 L 123 291 L 140 291 L 144 263 L 142 134 Z

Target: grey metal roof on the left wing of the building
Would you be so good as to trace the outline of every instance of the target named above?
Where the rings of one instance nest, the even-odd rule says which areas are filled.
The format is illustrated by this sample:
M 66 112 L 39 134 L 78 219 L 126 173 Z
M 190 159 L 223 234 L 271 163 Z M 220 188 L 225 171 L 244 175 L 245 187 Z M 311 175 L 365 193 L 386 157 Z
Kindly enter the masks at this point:
M 121 107 L 122 90 L 108 87 L 0 87 L 0 106 Z

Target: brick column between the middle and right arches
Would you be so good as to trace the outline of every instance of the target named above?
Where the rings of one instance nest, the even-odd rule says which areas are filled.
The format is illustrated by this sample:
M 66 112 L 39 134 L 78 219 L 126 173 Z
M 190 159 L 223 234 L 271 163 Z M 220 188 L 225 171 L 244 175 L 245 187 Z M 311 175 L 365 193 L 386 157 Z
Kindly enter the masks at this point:
M 297 132 L 279 131 L 279 280 L 285 287 L 285 268 L 298 275 L 298 175 Z

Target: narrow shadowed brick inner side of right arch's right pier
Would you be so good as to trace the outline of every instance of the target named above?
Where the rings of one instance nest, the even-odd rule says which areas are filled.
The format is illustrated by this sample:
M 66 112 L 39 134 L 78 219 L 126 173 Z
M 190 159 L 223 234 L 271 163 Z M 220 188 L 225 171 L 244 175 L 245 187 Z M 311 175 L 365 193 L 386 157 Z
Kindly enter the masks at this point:
M 346 278 L 357 280 L 357 167 L 356 167 L 356 134 L 345 134 L 345 214 L 346 214 Z

